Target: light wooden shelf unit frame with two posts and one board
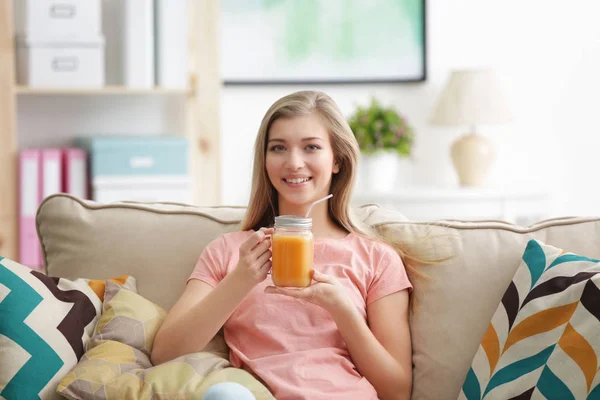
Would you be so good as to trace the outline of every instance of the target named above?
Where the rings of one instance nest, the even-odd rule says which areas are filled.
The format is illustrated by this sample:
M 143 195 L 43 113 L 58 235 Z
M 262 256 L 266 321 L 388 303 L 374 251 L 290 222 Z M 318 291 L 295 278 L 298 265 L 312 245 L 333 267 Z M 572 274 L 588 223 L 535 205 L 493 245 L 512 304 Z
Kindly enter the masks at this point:
M 218 65 L 219 0 L 186 0 L 188 10 L 187 89 L 30 88 L 15 79 L 13 1 L 0 0 L 0 255 L 17 260 L 19 130 L 18 98 L 22 96 L 183 96 L 185 135 L 190 144 L 193 203 L 220 203 Z M 64 110 L 67 114 L 69 110 Z M 206 171 L 210 171 L 207 173 Z

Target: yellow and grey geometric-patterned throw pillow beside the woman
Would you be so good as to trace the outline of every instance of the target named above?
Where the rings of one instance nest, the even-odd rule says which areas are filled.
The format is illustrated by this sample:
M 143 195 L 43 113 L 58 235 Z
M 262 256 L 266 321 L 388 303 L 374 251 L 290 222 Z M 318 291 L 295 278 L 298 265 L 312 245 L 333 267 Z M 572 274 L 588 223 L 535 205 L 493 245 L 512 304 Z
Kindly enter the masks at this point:
M 258 400 L 269 391 L 248 372 L 208 352 L 152 366 L 150 353 L 165 311 L 134 291 L 109 282 L 104 311 L 77 366 L 60 382 L 69 399 L 201 399 L 219 382 L 237 382 Z

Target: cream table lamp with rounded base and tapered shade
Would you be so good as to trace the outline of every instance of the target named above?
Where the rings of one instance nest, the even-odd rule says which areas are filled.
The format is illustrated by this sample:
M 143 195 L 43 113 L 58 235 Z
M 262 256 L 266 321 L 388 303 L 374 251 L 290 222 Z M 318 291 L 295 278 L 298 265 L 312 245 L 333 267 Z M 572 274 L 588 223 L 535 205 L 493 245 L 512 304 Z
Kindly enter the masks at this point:
M 452 71 L 431 123 L 470 128 L 470 132 L 458 138 L 451 147 L 452 162 L 462 186 L 484 186 L 495 158 L 491 143 L 477 134 L 477 125 L 508 121 L 510 112 L 492 70 Z

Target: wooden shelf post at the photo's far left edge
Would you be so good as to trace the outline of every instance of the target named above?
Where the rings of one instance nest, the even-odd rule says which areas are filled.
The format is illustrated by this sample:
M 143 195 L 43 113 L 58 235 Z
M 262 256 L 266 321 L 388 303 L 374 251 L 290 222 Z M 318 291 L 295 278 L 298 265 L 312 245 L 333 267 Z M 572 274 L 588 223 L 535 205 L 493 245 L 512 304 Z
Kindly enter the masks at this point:
M 0 256 L 17 260 L 17 128 L 13 0 L 0 0 Z

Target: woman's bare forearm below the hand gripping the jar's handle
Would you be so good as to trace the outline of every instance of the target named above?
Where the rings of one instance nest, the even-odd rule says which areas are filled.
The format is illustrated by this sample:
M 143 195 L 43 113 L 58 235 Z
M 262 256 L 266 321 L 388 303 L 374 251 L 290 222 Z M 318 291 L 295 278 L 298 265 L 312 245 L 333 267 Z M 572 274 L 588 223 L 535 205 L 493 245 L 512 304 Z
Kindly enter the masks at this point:
M 160 364 L 201 351 L 250 292 L 252 285 L 229 274 L 189 312 L 165 321 L 154 341 L 152 362 Z

